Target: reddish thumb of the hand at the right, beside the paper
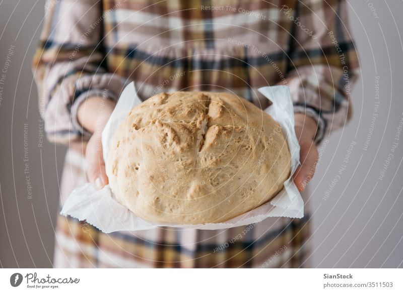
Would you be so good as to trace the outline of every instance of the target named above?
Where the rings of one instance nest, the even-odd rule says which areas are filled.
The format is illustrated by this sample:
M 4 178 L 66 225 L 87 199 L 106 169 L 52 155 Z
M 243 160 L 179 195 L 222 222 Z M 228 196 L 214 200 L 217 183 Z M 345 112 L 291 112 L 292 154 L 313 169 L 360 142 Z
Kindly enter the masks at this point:
M 300 143 L 300 146 L 301 165 L 294 174 L 294 183 L 299 191 L 303 191 L 315 173 L 318 152 L 313 142 Z

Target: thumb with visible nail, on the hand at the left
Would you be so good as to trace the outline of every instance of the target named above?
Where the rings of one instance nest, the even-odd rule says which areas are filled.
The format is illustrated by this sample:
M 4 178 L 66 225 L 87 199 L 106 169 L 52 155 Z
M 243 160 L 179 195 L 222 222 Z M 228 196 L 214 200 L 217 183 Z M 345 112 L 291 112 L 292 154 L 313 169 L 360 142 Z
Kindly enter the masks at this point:
M 102 153 L 101 134 L 94 133 L 86 148 L 87 175 L 90 183 L 99 190 L 108 184 Z

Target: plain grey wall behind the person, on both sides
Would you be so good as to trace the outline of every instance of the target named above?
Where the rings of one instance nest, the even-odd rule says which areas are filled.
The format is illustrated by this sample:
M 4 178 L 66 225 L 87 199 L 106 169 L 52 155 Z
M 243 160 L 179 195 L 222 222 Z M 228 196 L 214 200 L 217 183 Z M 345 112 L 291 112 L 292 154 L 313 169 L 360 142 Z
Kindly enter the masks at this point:
M 47 141 L 38 147 L 37 93 L 30 69 L 44 2 L 0 1 L 0 70 L 6 66 L 9 48 L 15 46 L 5 82 L 0 84 L 1 267 L 49 267 L 53 255 L 65 148 Z M 318 169 L 309 185 L 308 204 L 314 211 L 311 266 L 403 267 L 403 134 L 395 140 L 403 118 L 403 2 L 350 0 L 349 5 L 362 78 L 352 93 L 353 119 L 320 147 Z M 371 127 L 377 76 L 380 104 Z M 28 136 L 25 146 L 24 131 Z M 394 142 L 398 145 L 392 152 Z M 352 143 L 346 165 L 343 160 Z M 390 153 L 393 158 L 380 180 L 379 171 Z M 339 179 L 342 165 L 346 168 Z

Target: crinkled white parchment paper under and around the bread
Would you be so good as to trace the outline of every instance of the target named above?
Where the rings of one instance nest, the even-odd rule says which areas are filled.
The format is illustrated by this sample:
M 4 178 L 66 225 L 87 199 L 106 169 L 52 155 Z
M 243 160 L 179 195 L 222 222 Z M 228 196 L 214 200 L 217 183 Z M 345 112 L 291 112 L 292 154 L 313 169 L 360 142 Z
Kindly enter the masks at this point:
M 299 144 L 294 131 L 294 111 L 289 88 L 284 85 L 265 86 L 259 88 L 258 91 L 272 101 L 273 104 L 265 112 L 281 125 L 291 153 L 291 175 L 284 182 L 283 190 L 272 201 L 224 223 L 200 225 L 151 223 L 120 205 L 109 185 L 97 191 L 90 183 L 87 183 L 73 190 L 65 201 L 60 214 L 70 215 L 81 221 L 87 220 L 89 224 L 104 233 L 147 230 L 159 226 L 216 230 L 258 223 L 268 217 L 302 218 L 304 202 L 292 180 L 292 174 L 299 165 Z M 112 140 L 115 130 L 130 110 L 141 103 L 135 84 L 131 82 L 122 91 L 116 108 L 102 132 L 105 161 L 109 152 L 109 142 Z

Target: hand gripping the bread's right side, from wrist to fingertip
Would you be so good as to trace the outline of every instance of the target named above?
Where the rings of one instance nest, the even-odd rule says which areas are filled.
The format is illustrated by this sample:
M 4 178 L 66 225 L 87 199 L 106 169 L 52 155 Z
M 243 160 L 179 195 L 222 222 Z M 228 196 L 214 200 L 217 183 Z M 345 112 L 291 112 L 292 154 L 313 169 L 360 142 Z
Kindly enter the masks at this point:
M 294 183 L 297 185 L 298 190 L 302 191 L 305 189 L 306 184 L 312 179 L 318 160 L 318 151 L 313 142 L 317 125 L 315 120 L 304 114 L 297 113 L 294 119 L 295 133 L 301 147 L 301 165 L 294 173 Z

